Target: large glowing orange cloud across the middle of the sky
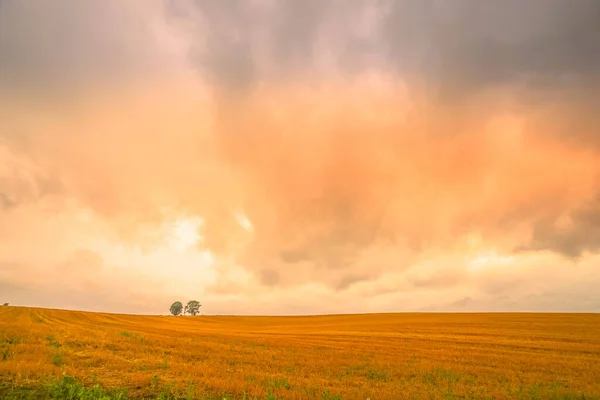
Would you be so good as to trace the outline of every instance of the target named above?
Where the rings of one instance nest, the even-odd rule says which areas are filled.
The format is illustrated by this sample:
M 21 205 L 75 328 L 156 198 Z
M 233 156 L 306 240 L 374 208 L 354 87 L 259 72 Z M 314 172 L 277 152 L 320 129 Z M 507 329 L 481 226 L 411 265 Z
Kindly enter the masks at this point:
M 453 110 L 359 80 L 227 104 L 193 85 L 106 101 L 91 92 L 43 122 L 18 109 L 9 120 L 26 139 L 21 159 L 54 171 L 59 196 L 91 211 L 103 235 L 151 252 L 173 215 L 200 217 L 199 249 L 223 279 L 241 267 L 267 287 L 344 290 L 430 250 L 460 252 L 471 234 L 511 253 L 596 194 L 595 152 L 536 129 L 538 110 L 507 111 L 500 94 Z M 21 185 L 5 196 L 18 198 L 26 178 L 5 174 Z M 452 284 L 460 270 L 411 279 Z

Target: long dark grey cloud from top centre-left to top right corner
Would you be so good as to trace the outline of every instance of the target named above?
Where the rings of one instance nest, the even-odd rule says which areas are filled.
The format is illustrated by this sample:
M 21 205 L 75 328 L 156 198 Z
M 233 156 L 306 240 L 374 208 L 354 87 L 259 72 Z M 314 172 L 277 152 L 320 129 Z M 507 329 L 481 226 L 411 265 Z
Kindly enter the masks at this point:
M 318 73 L 322 57 L 350 73 L 394 70 L 447 95 L 579 85 L 600 68 L 593 0 L 196 1 L 199 14 L 182 4 L 167 9 L 207 26 L 194 65 L 225 86 Z

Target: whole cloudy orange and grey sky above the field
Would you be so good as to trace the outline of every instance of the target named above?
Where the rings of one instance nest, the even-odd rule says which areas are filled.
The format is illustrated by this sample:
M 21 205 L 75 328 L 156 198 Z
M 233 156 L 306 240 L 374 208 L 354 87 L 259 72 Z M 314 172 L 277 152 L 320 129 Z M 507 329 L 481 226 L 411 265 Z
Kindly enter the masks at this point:
M 0 0 L 0 302 L 600 312 L 595 0 Z

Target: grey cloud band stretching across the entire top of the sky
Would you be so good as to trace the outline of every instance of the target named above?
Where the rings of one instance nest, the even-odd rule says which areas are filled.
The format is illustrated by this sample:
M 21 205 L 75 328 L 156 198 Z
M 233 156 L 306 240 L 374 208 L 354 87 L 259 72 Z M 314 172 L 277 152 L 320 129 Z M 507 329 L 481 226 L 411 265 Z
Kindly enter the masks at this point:
M 353 75 L 375 67 L 455 98 L 494 85 L 581 85 L 600 69 L 594 0 L 119 4 L 4 1 L 0 81 L 58 85 L 159 68 L 170 55 L 157 41 L 157 23 L 187 30 L 178 40 L 189 41 L 191 64 L 230 91 L 323 68 Z M 152 7 L 156 16 L 142 12 Z

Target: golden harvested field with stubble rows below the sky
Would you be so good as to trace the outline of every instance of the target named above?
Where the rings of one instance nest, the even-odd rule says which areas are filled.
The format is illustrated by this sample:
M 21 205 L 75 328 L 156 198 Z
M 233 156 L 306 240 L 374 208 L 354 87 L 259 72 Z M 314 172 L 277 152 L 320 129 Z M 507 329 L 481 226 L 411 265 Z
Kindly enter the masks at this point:
M 600 399 L 600 315 L 171 317 L 0 307 L 0 398 L 69 393 Z

